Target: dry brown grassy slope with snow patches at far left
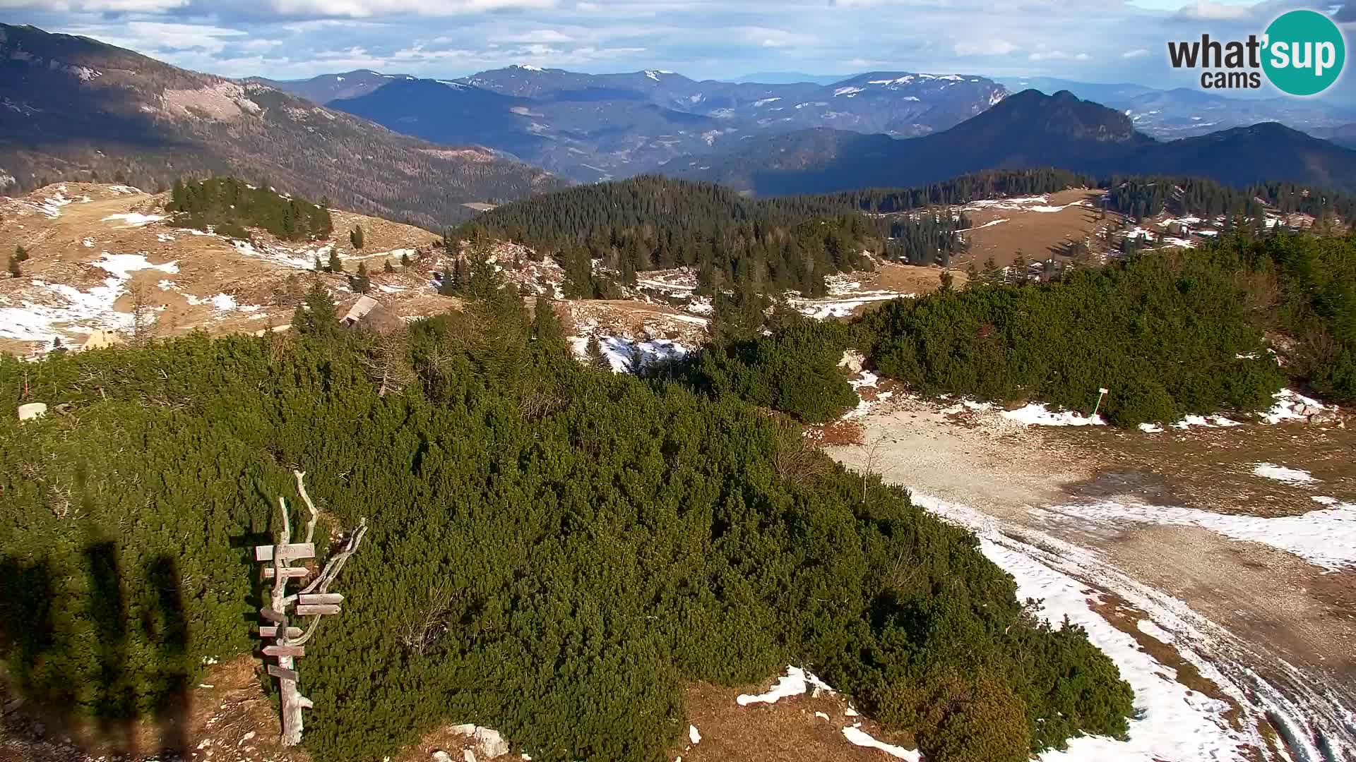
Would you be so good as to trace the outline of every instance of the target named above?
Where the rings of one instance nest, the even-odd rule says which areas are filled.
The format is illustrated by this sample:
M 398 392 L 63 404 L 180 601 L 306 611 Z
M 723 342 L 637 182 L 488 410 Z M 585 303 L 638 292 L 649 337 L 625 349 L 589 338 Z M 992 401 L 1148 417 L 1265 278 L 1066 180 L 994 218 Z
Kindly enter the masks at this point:
M 160 214 L 164 194 L 115 193 L 111 186 L 96 183 L 64 183 L 66 198 L 75 201 L 60 207 L 60 216 L 49 218 L 41 213 L 42 202 L 56 195 L 58 186 L 49 186 L 27 197 L 0 199 L 0 251 L 12 252 L 23 245 L 30 259 L 23 263 L 20 278 L 0 278 L 0 304 L 18 306 L 23 301 L 38 304 L 61 304 L 64 300 L 52 297 L 33 286 L 34 279 L 49 283 L 69 285 L 80 292 L 104 285 L 108 273 L 94 267 L 103 252 L 141 254 L 152 264 L 176 263 L 179 273 L 160 270 L 140 270 L 130 274 L 123 283 L 129 292 L 114 302 L 118 312 L 132 310 L 132 292 L 141 293 L 157 310 L 153 325 L 155 336 L 172 336 L 193 329 L 209 334 L 232 331 L 258 332 L 274 325 L 287 324 L 292 310 L 315 277 L 321 278 L 331 290 L 343 293 L 346 279 L 336 274 L 316 274 L 278 262 L 248 256 L 237 251 L 231 241 L 212 236 L 195 236 L 190 230 L 171 228 L 163 222 L 142 226 L 127 226 L 118 220 L 104 220 L 113 214 L 141 213 Z M 258 244 L 285 245 L 293 251 L 319 249 L 332 244 L 342 254 L 366 256 L 372 279 L 376 285 L 400 286 L 399 294 L 381 293 L 373 296 L 391 306 L 399 315 L 433 315 L 460 302 L 431 294 L 427 283 L 427 264 L 433 258 L 414 263 L 410 268 L 399 267 L 399 255 L 391 256 L 395 273 L 382 271 L 381 252 L 396 249 L 424 249 L 437 237 L 420 228 L 391 222 L 376 217 L 365 217 L 348 212 L 334 212 L 334 233 L 325 241 L 293 243 L 277 241 L 273 236 L 255 230 Z M 362 252 L 351 252 L 348 230 L 362 225 L 366 247 Z M 87 245 L 88 244 L 88 245 Z M 357 270 L 359 259 L 344 262 L 348 270 Z M 172 286 L 160 287 L 161 281 Z M 228 294 L 240 305 L 260 305 L 262 309 L 248 312 L 218 310 L 210 302 L 216 294 Z M 190 300 L 188 297 L 194 298 Z M 340 298 L 340 306 L 347 308 L 357 296 Z M 198 301 L 198 304 L 191 304 Z M 71 328 L 80 325 L 73 324 Z M 88 327 L 88 323 L 84 325 Z M 85 334 L 80 331 L 58 331 L 64 343 L 79 346 Z M 35 344 L 16 339 L 0 339 L 0 351 L 27 354 Z

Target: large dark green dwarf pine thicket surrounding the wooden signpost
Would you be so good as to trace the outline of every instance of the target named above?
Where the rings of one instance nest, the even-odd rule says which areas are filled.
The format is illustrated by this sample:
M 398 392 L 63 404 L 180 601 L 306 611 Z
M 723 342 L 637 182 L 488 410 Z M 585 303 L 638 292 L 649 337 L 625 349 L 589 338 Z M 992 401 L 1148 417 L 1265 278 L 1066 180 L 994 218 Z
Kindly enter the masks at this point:
M 507 292 L 397 339 L 334 317 L 321 290 L 294 335 L 0 358 L 11 405 L 53 405 L 0 423 L 24 696 L 115 721 L 254 651 L 250 548 L 300 468 L 320 537 L 370 523 L 302 664 L 317 759 L 471 721 L 534 759 L 658 762 L 685 683 L 786 663 L 938 762 L 1125 731 L 1115 666 L 1025 613 L 974 536 L 747 404 L 583 367 Z

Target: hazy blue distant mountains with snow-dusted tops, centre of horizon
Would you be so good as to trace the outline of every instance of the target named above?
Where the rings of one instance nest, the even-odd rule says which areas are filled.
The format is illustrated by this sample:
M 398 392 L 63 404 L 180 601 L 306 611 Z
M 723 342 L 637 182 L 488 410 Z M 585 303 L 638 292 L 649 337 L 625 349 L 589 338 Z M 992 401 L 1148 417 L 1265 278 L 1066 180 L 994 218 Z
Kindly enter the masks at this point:
M 396 132 L 487 145 L 582 182 L 624 178 L 677 156 L 807 127 L 929 134 L 1008 92 L 991 80 L 960 75 L 873 72 L 819 85 L 533 66 L 461 80 L 350 72 L 273 84 Z M 339 88 L 354 95 L 332 95 Z

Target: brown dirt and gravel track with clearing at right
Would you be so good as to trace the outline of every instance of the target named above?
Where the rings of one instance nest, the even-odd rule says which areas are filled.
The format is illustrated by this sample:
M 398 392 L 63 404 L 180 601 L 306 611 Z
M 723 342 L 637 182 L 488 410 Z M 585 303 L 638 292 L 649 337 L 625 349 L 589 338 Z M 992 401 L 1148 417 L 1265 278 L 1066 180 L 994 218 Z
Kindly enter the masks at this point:
M 1124 504 L 1144 515 L 1159 506 L 1298 515 L 1322 507 L 1313 495 L 1333 491 L 1356 502 L 1356 473 L 1342 460 L 1356 442 L 1352 434 L 1249 426 L 1155 441 L 1021 428 L 997 416 L 967 426 L 917 400 L 873 411 L 862 424 L 866 445 L 829 453 L 910 487 L 923 504 L 937 503 L 987 537 L 991 557 L 1018 553 L 1090 586 L 1090 599 L 1109 593 L 1147 609 L 1143 616 L 1173 635 L 1178 652 L 1219 670 L 1224 694 L 1230 683 L 1237 687 L 1230 701 L 1243 716 L 1267 724 L 1268 712 L 1279 715 L 1281 735 L 1309 739 L 1313 751 L 1299 748 L 1295 758 L 1356 759 L 1356 569 L 1325 569 L 1215 529 L 1116 513 Z M 1262 453 L 1323 479 L 1268 483 L 1248 465 Z M 1195 492 L 1208 495 L 1210 506 L 1180 499 Z M 1108 513 L 1098 504 L 1117 507 Z M 1128 621 L 1135 629 L 1135 618 Z

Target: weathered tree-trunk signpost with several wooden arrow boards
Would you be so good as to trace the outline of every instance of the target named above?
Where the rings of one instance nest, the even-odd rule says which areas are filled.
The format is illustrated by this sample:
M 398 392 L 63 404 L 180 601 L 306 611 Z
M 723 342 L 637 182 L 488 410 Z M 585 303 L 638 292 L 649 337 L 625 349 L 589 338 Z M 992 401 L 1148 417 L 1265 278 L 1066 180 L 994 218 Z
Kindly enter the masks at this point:
M 278 687 L 282 694 L 283 746 L 297 746 L 301 743 L 301 710 L 312 708 L 311 700 L 301 696 L 297 690 L 298 678 L 293 659 L 306 655 L 304 645 L 315 635 L 316 626 L 320 625 L 320 618 L 339 613 L 339 603 L 343 602 L 343 595 L 330 593 L 330 584 L 339 576 L 344 561 L 348 560 L 348 556 L 353 556 L 354 550 L 358 549 L 358 544 L 362 542 L 362 536 L 367 533 L 367 519 L 363 518 L 358 522 L 358 529 L 348 537 L 348 542 L 325 561 L 324 568 L 320 569 L 320 574 L 316 575 L 311 584 L 289 595 L 289 582 L 304 580 L 312 574 L 311 568 L 294 567 L 290 565 L 290 561 L 315 559 L 316 546 L 312 540 L 316 533 L 316 519 L 320 517 L 315 503 L 311 502 L 311 496 L 306 495 L 306 485 L 302 481 L 306 476 L 305 472 L 293 470 L 292 473 L 297 477 L 297 492 L 311 511 L 311 519 L 306 521 L 306 537 L 302 542 L 292 541 L 287 502 L 283 498 L 278 498 L 278 508 L 282 511 L 282 537 L 273 545 L 255 546 L 255 560 L 270 564 L 263 569 L 264 579 L 273 580 L 273 595 L 268 606 L 259 609 L 259 617 L 263 620 L 259 625 L 259 637 L 273 641 L 263 647 L 263 655 L 278 660 L 277 664 L 268 664 L 267 671 L 270 675 L 278 678 Z M 292 617 L 313 617 L 305 630 L 298 626 L 290 626 L 289 607 L 294 607 Z

